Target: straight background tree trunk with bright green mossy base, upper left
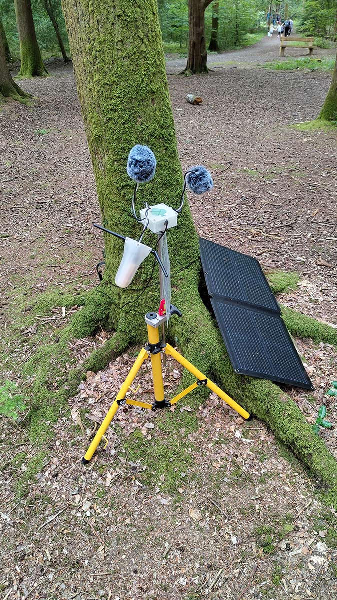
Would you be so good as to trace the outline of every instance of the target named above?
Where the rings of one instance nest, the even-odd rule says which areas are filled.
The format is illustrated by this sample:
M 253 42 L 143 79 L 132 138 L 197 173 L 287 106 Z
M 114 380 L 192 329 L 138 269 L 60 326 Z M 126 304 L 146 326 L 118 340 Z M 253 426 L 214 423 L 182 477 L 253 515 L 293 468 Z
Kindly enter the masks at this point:
M 14 0 L 14 3 L 21 54 L 19 77 L 44 77 L 48 71 L 37 43 L 31 0 Z

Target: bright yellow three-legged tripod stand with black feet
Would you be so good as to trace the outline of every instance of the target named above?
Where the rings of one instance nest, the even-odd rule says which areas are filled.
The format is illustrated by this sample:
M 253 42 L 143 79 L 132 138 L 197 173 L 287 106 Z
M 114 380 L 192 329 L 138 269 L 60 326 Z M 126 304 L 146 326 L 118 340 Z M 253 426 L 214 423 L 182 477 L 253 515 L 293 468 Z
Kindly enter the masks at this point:
M 181 313 L 179 313 L 179 311 L 177 311 L 176 308 L 171 306 L 171 309 L 174 309 L 173 311 L 171 310 L 171 314 L 174 314 L 175 312 L 176 314 L 179 314 L 179 316 L 181 316 Z M 215 392 L 215 394 L 218 395 L 219 398 L 221 398 L 221 400 L 224 400 L 224 402 L 227 403 L 228 406 L 230 406 L 233 410 L 236 410 L 236 412 L 239 413 L 239 415 L 242 416 L 243 419 L 249 418 L 249 413 L 246 412 L 246 410 L 244 410 L 241 406 L 239 406 L 239 404 L 234 402 L 234 400 L 227 396 L 225 392 L 222 392 L 222 390 L 218 388 L 218 386 L 215 385 L 215 383 L 207 379 L 207 377 L 204 376 L 201 373 L 201 371 L 195 368 L 194 365 L 191 364 L 191 362 L 186 361 L 186 359 L 183 358 L 183 356 L 181 356 L 179 353 L 177 353 L 176 350 L 174 350 L 174 348 L 170 346 L 170 344 L 163 344 L 160 342 L 159 327 L 164 323 L 165 320 L 166 316 L 159 316 L 157 313 L 147 313 L 145 315 L 145 322 L 148 327 L 148 344 L 146 344 L 146 346 L 142 348 L 142 350 L 140 350 L 140 353 L 137 356 L 133 367 L 128 373 L 127 379 L 125 379 L 125 382 L 123 383 L 121 389 L 118 392 L 116 400 L 112 404 L 109 412 L 107 413 L 106 418 L 104 419 L 103 423 L 101 424 L 101 427 L 99 428 L 97 434 L 92 440 L 91 445 L 86 451 L 85 456 L 82 458 L 83 464 L 89 463 L 89 461 L 95 453 L 95 450 L 98 448 L 98 445 L 100 445 L 101 439 L 104 437 L 104 434 L 106 433 L 107 428 L 112 422 L 113 417 L 116 415 L 116 412 L 118 411 L 119 407 L 124 406 L 124 404 L 131 404 L 131 406 L 140 406 L 142 409 L 148 410 L 163 409 L 166 407 L 170 407 L 173 404 L 176 404 L 178 400 L 186 396 L 186 394 L 189 394 L 189 392 L 192 392 L 192 390 L 194 390 L 198 386 L 205 385 L 212 392 Z M 179 362 L 179 364 L 182 365 L 182 367 L 187 369 L 189 373 L 191 373 L 197 379 L 194 383 L 192 383 L 192 385 L 184 389 L 182 392 L 180 392 L 180 394 L 177 394 L 172 400 L 166 400 L 166 398 L 164 397 L 163 372 L 161 370 L 162 352 L 166 355 L 172 356 L 172 358 L 174 358 L 175 361 Z M 154 381 L 155 392 L 155 401 L 153 404 L 150 404 L 148 402 L 139 402 L 138 400 L 131 400 L 131 398 L 126 398 L 128 389 L 130 389 L 130 386 L 132 385 L 133 380 L 135 379 L 138 371 L 140 370 L 140 367 L 142 367 L 143 362 L 146 361 L 146 359 L 148 359 L 149 356 L 151 358 L 152 378 Z

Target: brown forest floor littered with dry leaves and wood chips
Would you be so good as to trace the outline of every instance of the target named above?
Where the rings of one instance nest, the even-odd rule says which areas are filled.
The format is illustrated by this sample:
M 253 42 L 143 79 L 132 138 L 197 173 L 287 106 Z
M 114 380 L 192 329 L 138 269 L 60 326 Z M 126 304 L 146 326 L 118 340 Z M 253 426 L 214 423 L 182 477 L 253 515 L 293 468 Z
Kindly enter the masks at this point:
M 336 326 L 336 133 L 289 127 L 315 117 L 330 76 L 255 68 L 266 54 L 263 40 L 225 55 L 239 57 L 235 69 L 169 77 L 183 169 L 205 164 L 215 183 L 203 199 L 190 195 L 194 223 L 200 236 L 257 257 L 266 272 L 297 272 L 299 285 L 279 301 Z M 71 316 L 56 308 L 27 329 L 29 303 L 53 287 L 71 289 L 75 305 L 97 284 L 101 258 L 73 70 L 58 62 L 49 69 L 49 79 L 20 82 L 39 98 L 34 106 L 10 104 L 0 114 L 1 317 L 11 353 L 3 371 L 19 389 L 28 358 Z M 203 103 L 186 103 L 188 93 Z M 74 341 L 79 361 L 106 336 Z M 324 396 L 337 379 L 336 349 L 296 344 L 315 391 L 291 397 L 308 422 L 322 403 L 336 422 L 336 403 Z M 335 512 L 263 424 L 243 422 L 218 398 L 159 415 L 121 409 L 107 450 L 80 464 L 91 423 L 136 352 L 88 373 L 71 416 L 50 425 L 41 447 L 25 421 L 1 419 L 2 598 L 336 598 Z M 169 363 L 167 388 L 173 393 L 179 381 Z M 146 367 L 140 383 L 139 394 L 151 388 Z M 335 455 L 336 431 L 320 433 Z

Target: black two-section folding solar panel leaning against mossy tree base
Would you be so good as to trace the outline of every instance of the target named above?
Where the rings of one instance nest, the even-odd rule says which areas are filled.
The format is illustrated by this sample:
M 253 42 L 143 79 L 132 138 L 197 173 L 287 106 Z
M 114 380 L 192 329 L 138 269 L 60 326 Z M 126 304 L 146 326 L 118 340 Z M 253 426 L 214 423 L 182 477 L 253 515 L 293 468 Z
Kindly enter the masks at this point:
M 199 240 L 207 292 L 236 373 L 313 389 L 258 261 Z

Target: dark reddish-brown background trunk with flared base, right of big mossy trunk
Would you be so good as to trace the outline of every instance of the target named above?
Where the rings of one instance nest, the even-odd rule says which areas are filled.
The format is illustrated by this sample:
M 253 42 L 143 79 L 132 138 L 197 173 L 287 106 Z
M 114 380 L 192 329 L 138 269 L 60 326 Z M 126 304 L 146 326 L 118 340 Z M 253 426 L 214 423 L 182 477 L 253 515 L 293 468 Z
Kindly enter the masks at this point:
M 208 73 L 204 11 L 212 0 L 188 0 L 188 59 L 185 73 Z

